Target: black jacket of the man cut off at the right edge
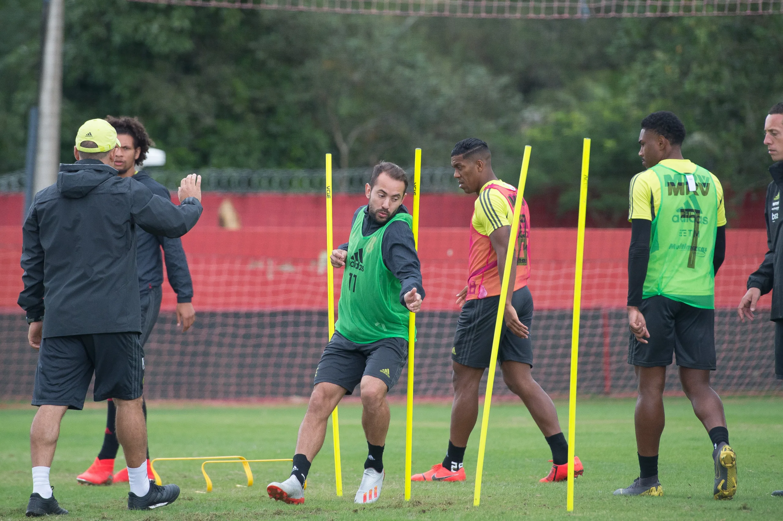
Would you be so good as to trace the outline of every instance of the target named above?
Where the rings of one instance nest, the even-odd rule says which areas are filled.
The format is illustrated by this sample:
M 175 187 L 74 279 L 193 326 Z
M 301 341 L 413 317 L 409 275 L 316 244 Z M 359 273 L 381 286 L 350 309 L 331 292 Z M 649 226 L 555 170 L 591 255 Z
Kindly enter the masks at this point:
M 772 292 L 770 320 L 783 320 L 783 241 L 781 232 L 781 190 L 783 161 L 770 167 L 772 182 L 767 186 L 764 220 L 767 221 L 767 253 L 759 269 L 748 278 L 748 289 L 758 288 L 762 295 Z

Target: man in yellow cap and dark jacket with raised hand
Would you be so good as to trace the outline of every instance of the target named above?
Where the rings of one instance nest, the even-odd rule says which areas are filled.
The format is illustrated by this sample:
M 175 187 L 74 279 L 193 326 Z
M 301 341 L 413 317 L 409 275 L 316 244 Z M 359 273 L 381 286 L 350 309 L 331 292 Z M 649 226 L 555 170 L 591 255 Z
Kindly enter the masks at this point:
M 27 516 L 66 514 L 52 495 L 49 469 L 60 421 L 84 407 L 95 374 L 95 401 L 112 398 L 117 439 L 128 464 L 128 508 L 168 505 L 176 485 L 146 475 L 142 411 L 144 351 L 135 225 L 167 237 L 185 235 L 201 211 L 201 178 L 182 179 L 179 207 L 110 165 L 119 146 L 106 120 L 79 128 L 76 163 L 61 164 L 56 185 L 35 194 L 24 221 L 18 303 L 27 313 L 31 347 L 39 350 L 30 431 L 33 494 Z

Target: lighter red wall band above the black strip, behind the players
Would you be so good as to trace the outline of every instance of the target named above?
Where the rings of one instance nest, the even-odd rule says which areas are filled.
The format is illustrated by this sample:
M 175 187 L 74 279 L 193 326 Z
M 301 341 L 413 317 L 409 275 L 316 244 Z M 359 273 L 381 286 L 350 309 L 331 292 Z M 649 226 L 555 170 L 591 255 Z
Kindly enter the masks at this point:
M 210 205 L 211 207 L 212 205 Z M 335 221 L 334 246 L 348 239 L 348 206 Z M 205 212 L 206 214 L 206 212 Z M 337 212 L 335 212 L 337 214 Z M 208 214 L 206 215 L 208 217 Z M 422 228 L 420 258 L 429 310 L 456 310 L 454 295 L 467 278 L 467 230 Z M 586 232 L 583 307 L 625 307 L 630 230 Z M 200 311 L 322 309 L 326 307 L 326 232 L 323 227 L 252 227 L 230 232 L 199 223 L 182 238 Z M 727 257 L 716 278 L 716 306 L 734 307 L 745 281 L 767 250 L 763 230 L 728 230 Z M 21 231 L 0 226 L 0 307 L 18 310 L 22 288 Z M 532 228 L 530 289 L 536 309 L 572 306 L 576 230 Z M 342 270 L 335 270 L 339 295 Z M 164 309 L 175 307 L 164 283 Z M 764 298 L 761 305 L 767 305 Z

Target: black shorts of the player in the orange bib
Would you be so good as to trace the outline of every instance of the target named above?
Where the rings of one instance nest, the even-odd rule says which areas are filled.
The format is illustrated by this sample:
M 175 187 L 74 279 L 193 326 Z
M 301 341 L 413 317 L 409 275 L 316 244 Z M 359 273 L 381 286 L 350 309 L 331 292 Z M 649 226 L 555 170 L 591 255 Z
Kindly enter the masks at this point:
M 454 347 L 451 359 L 457 364 L 474 368 L 488 368 L 495 338 L 495 321 L 500 296 L 486 296 L 483 299 L 468 300 L 462 307 L 456 322 Z M 528 286 L 517 289 L 511 296 L 511 304 L 517 310 L 519 322 L 531 329 L 533 322 L 533 297 Z M 533 347 L 530 336 L 519 338 L 506 327 L 500 332 L 500 347 L 497 360 L 518 361 L 533 366 Z

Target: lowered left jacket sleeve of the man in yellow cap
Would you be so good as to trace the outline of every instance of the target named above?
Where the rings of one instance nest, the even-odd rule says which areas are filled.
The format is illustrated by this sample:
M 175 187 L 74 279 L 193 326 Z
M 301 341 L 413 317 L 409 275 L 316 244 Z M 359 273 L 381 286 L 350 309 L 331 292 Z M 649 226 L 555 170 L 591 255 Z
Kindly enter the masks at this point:
M 38 235 L 35 203 L 31 205 L 22 226 L 21 264 L 24 289 L 16 302 L 27 312 L 27 318 L 39 318 L 44 314 L 44 248 Z

